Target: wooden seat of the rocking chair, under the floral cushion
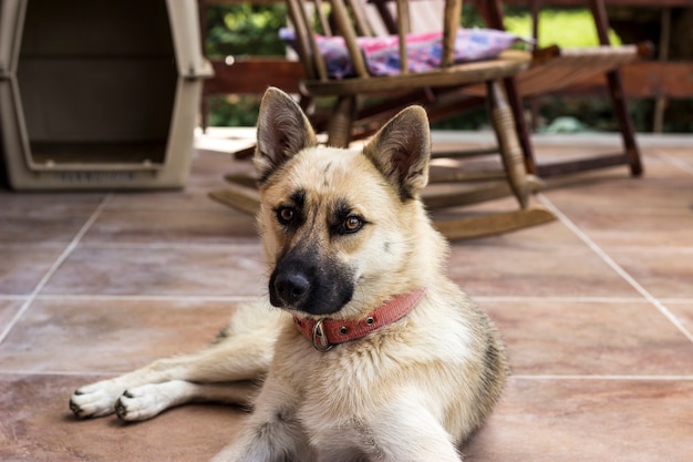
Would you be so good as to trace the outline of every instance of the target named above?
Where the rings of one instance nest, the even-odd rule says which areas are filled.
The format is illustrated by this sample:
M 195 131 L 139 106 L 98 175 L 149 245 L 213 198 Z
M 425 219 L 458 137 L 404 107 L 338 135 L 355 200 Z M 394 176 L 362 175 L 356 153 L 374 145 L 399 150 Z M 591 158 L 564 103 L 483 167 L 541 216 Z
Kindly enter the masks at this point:
M 530 63 L 531 53 L 506 50 L 496 59 L 466 62 L 435 71 L 341 80 L 304 80 L 301 85 L 314 95 L 349 95 L 406 90 L 413 86 L 459 86 L 516 75 L 528 69 Z

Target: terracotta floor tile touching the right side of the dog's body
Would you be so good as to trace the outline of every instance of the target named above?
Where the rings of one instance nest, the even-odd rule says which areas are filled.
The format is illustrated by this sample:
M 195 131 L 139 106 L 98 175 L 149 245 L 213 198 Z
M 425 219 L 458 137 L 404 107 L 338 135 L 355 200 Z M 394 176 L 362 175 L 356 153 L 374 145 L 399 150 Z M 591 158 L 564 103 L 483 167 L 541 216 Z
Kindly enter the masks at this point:
M 482 300 L 516 374 L 692 376 L 693 345 L 648 302 Z

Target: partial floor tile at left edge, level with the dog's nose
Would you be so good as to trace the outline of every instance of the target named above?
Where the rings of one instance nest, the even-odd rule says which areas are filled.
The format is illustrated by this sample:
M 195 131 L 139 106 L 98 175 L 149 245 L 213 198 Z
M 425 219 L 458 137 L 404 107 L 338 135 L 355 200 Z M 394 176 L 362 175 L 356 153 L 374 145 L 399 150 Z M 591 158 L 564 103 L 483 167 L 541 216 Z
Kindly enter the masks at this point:
M 65 244 L 0 244 L 0 294 L 31 294 Z

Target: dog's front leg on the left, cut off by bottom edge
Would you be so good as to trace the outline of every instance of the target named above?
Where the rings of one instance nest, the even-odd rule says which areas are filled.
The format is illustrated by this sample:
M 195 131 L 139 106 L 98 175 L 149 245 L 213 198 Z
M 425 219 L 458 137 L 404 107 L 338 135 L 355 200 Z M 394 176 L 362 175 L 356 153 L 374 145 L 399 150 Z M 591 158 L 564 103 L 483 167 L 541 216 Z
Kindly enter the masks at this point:
M 218 453 L 213 462 L 313 461 L 308 437 L 297 419 L 299 394 L 270 373 L 240 437 Z

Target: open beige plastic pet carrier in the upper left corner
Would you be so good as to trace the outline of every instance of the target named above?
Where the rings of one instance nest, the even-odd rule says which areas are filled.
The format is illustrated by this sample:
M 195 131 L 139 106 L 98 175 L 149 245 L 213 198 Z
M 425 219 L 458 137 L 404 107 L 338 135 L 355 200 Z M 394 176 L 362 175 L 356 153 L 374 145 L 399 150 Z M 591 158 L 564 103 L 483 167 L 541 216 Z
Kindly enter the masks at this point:
M 0 0 L 0 146 L 15 189 L 187 181 L 203 58 L 195 0 Z

